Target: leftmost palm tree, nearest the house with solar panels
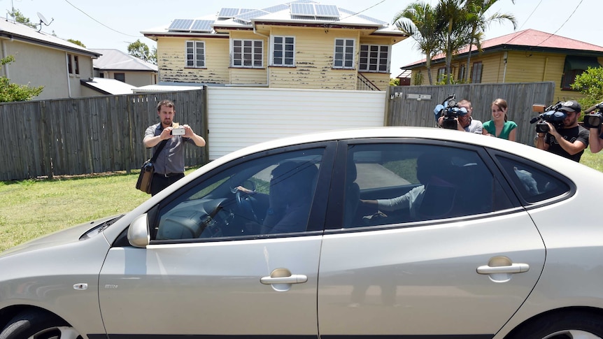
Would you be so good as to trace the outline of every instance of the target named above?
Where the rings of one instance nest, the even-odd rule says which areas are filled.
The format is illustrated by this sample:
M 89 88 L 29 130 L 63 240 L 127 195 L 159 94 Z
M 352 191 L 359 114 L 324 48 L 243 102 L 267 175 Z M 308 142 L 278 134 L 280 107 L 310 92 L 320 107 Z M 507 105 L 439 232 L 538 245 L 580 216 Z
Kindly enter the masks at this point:
M 438 40 L 438 19 L 435 8 L 429 3 L 417 1 L 406 6 L 395 15 L 393 22 L 400 31 L 412 36 L 418 44 L 418 50 L 425 53 L 425 66 L 430 85 L 433 85 L 432 57 L 441 49 Z

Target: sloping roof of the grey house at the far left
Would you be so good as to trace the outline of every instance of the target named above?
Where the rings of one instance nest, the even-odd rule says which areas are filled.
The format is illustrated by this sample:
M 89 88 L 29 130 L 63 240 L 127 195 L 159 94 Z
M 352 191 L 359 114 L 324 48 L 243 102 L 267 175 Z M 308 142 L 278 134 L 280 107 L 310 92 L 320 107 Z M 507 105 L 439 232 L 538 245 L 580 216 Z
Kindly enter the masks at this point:
M 92 58 L 99 57 L 99 53 L 97 52 L 83 48 L 75 43 L 70 43 L 57 36 L 45 34 L 42 31 L 36 31 L 36 29 L 28 27 L 27 25 L 13 22 L 13 20 L 8 20 L 3 17 L 0 17 L 0 36 L 6 36 L 7 38 L 15 39 L 17 41 L 35 43 L 36 45 L 47 48 L 78 52 L 82 55 L 89 55 Z

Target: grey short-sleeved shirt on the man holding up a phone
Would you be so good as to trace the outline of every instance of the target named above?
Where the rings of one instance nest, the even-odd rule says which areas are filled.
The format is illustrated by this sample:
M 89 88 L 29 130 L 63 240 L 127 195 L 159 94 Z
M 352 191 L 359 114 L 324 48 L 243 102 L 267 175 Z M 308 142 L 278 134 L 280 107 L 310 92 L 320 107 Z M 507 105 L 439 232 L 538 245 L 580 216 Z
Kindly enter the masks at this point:
M 158 136 L 162 131 L 161 122 L 151 125 L 145 131 L 145 138 L 147 136 Z M 157 146 L 160 143 L 153 147 L 153 154 L 157 151 Z M 155 166 L 155 173 L 184 173 L 184 143 L 194 144 L 194 141 L 191 138 L 184 138 L 183 136 L 172 136 L 167 140 L 166 145 L 153 164 Z

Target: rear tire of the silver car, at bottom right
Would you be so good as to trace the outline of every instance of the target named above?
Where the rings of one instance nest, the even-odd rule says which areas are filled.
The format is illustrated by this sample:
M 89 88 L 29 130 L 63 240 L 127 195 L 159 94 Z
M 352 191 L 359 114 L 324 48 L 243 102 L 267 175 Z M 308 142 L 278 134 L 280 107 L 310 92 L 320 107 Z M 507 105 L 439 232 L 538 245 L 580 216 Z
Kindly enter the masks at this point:
M 509 339 L 603 338 L 603 318 L 586 311 L 559 312 L 519 327 Z

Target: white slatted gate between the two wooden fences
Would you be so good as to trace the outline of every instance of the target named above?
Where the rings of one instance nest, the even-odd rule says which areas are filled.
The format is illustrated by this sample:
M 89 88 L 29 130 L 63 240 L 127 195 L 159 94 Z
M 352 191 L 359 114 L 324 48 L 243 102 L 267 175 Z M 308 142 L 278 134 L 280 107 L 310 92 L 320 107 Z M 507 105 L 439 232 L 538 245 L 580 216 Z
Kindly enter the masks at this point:
M 209 159 L 285 136 L 384 126 L 383 91 L 208 87 L 207 94 Z

